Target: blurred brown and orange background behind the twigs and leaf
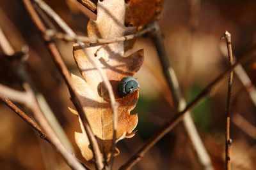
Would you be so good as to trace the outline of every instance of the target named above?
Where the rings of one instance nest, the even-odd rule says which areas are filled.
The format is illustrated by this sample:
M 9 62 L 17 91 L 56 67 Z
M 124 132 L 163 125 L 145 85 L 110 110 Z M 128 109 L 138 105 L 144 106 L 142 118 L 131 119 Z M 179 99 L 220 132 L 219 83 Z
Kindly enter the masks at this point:
M 92 13 L 76 1 L 47 0 L 51 7 L 77 34 L 86 35 L 88 16 Z M 256 1 L 202 0 L 191 6 L 192 0 L 164 2 L 161 31 L 166 49 L 177 73 L 182 94 L 191 101 L 218 74 L 227 69 L 227 50 L 220 37 L 226 30 L 232 34 L 234 55 L 242 57 L 255 48 Z M 199 7 L 199 8 L 198 8 Z M 44 94 L 52 111 L 72 141 L 77 157 L 83 160 L 74 143 L 74 131 L 79 131 L 77 118 L 68 111 L 72 106 L 67 87 L 61 79 L 44 42 L 19 0 L 0 1 L 0 26 L 15 50 L 29 46 L 28 73 L 36 87 Z M 79 74 L 72 57 L 72 44 L 58 41 L 70 72 Z M 147 37 L 136 39 L 134 49 L 144 48 L 145 62 L 135 75 L 140 82 L 140 99 L 132 113 L 138 113 L 136 136 L 118 142 L 118 167 L 136 152 L 154 132 L 175 113 L 172 96 L 164 81 L 156 49 Z M 1 50 L 1 49 L 0 49 Z M 256 82 L 256 63 L 244 65 L 253 83 Z M 20 83 L 0 63 L 0 83 L 20 89 Z M 193 108 L 193 118 L 215 169 L 224 169 L 225 163 L 225 104 L 227 78 L 218 84 L 210 96 Z M 28 108 L 19 105 L 26 113 Z M 234 76 L 232 92 L 232 167 L 255 169 L 256 165 L 256 112 L 246 88 Z M 240 116 L 242 117 L 240 117 Z M 243 118 L 247 122 L 243 122 Z M 243 127 L 251 125 L 248 131 Z M 0 169 L 69 169 L 60 155 L 39 138 L 9 108 L 0 104 Z M 184 125 L 180 123 L 134 169 L 202 169 Z

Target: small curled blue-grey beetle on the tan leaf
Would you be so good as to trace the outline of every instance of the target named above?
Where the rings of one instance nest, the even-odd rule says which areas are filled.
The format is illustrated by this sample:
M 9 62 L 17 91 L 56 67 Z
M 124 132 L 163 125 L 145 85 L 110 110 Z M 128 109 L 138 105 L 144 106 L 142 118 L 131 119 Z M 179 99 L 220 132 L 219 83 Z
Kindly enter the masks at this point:
M 118 94 L 122 97 L 135 92 L 140 87 L 138 81 L 132 76 L 122 78 L 118 85 Z

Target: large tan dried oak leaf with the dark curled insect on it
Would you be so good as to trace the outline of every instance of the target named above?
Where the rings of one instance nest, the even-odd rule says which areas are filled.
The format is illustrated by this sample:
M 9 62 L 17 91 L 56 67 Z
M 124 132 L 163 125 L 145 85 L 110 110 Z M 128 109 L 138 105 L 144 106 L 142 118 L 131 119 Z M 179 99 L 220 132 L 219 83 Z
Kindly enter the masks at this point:
M 132 29 L 125 27 L 125 2 L 108 0 L 98 2 L 97 20 L 88 22 L 88 36 L 96 38 L 115 38 L 124 36 Z M 77 66 L 84 79 L 72 74 L 72 84 L 79 94 L 86 117 L 93 133 L 98 139 L 100 150 L 107 157 L 110 155 L 113 139 L 113 113 L 109 101 L 108 91 L 104 87 L 99 71 L 90 62 L 91 57 L 108 76 L 113 87 L 116 103 L 118 103 L 118 121 L 116 141 L 134 136 L 132 132 L 138 124 L 138 115 L 130 113 L 138 102 L 138 90 L 125 97 L 118 96 L 118 83 L 125 76 L 132 76 L 143 63 L 143 50 L 138 50 L 128 57 L 124 57 L 124 43 L 112 43 L 88 47 L 74 45 L 73 53 Z M 73 113 L 76 111 L 71 110 Z M 81 124 L 81 120 L 79 120 Z M 93 159 L 92 150 L 81 124 L 82 133 L 75 132 L 77 146 L 79 146 L 86 160 Z

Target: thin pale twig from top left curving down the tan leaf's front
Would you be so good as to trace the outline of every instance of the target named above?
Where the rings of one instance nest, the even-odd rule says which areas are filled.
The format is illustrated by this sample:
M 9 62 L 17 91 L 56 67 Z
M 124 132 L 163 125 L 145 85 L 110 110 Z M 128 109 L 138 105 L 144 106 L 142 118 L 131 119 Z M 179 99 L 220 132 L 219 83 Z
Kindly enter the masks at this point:
M 58 25 L 60 25 L 61 29 L 63 29 L 63 31 L 65 31 L 66 34 L 68 34 L 68 36 L 73 36 L 76 37 L 76 33 L 74 31 L 72 31 L 72 29 L 60 18 L 60 16 L 57 15 L 57 13 L 55 13 L 47 4 L 45 4 L 43 1 L 40 0 L 36 0 L 36 3 L 40 3 L 40 7 L 42 8 L 42 10 L 45 11 L 45 13 L 47 13 L 47 15 L 49 15 L 49 17 L 51 17 Z M 86 48 L 83 46 L 83 44 L 80 41 L 77 41 L 78 45 L 81 46 L 81 48 L 83 48 L 84 54 L 86 54 Z M 97 64 L 97 62 L 95 62 L 95 60 L 92 59 L 92 57 L 90 55 L 86 55 L 88 57 L 88 59 L 90 60 L 90 62 L 93 64 L 94 67 L 97 68 L 97 70 L 99 71 L 100 77 L 103 80 L 103 83 L 106 87 L 106 89 L 108 90 L 108 94 L 109 94 L 109 98 L 110 98 L 110 103 L 111 103 L 111 108 L 113 111 L 113 143 L 112 143 L 112 147 L 111 147 L 111 167 L 113 166 L 113 155 L 115 152 L 115 145 L 116 145 L 116 127 L 117 127 L 117 107 L 118 104 L 115 101 L 115 95 L 111 86 L 111 83 L 108 80 L 108 77 L 106 76 L 106 73 L 104 73 L 104 71 L 102 70 L 102 68 Z

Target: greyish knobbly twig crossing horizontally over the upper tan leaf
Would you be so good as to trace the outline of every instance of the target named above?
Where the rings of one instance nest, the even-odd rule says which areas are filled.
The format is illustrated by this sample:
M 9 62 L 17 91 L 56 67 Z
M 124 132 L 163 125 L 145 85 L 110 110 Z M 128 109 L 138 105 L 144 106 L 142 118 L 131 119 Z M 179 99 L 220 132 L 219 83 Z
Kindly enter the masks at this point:
M 49 39 L 62 39 L 65 41 L 76 41 L 76 42 L 83 42 L 83 43 L 90 43 L 90 46 L 97 46 L 102 44 L 109 44 L 109 43 L 118 43 L 121 41 L 128 41 L 134 38 L 137 38 L 139 36 L 143 36 L 144 34 L 147 34 L 148 32 L 154 31 L 154 27 L 147 27 L 146 29 L 143 29 L 140 32 L 137 32 L 135 34 L 122 36 L 118 38 L 109 38 L 109 39 L 103 39 L 103 38 L 90 38 L 88 36 L 70 36 L 69 34 L 63 34 L 62 32 L 56 32 L 55 30 L 47 30 L 45 32 L 46 36 L 49 36 Z

